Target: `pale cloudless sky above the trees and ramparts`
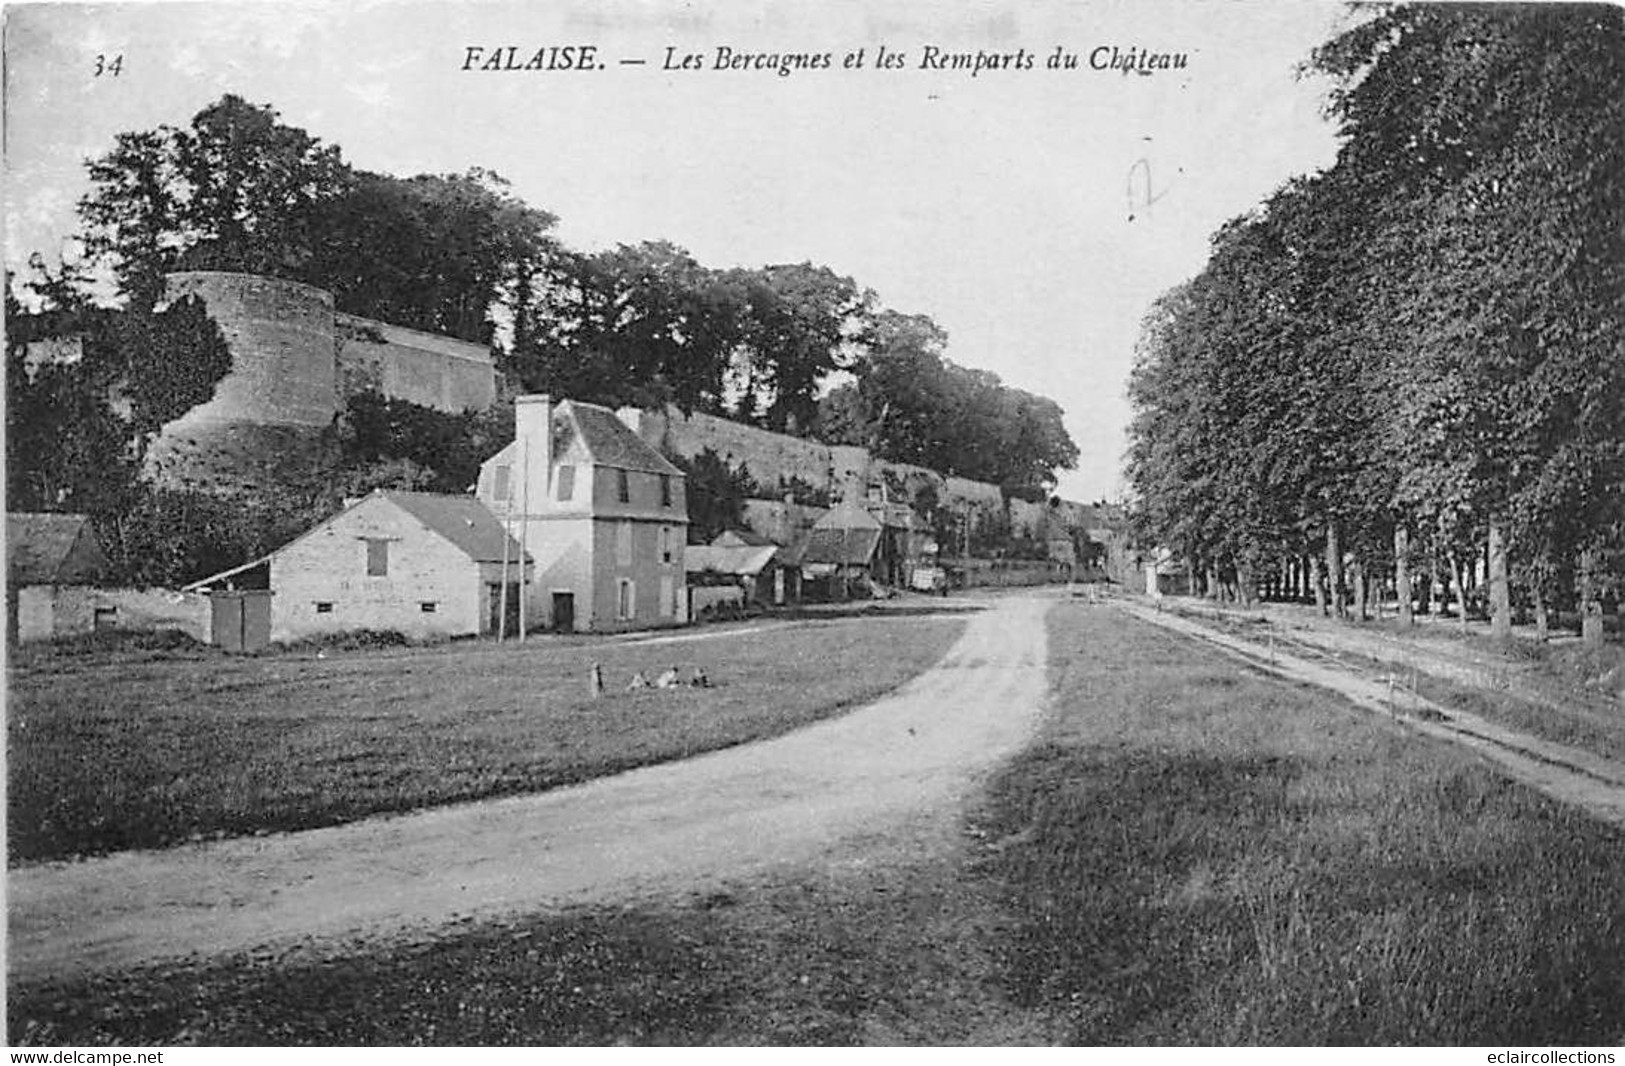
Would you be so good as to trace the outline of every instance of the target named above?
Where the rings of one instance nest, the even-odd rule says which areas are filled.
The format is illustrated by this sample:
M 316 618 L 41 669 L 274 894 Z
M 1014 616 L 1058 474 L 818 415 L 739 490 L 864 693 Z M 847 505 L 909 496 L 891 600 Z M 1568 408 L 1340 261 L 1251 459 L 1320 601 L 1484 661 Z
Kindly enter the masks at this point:
M 575 249 L 852 276 L 944 327 L 954 362 L 1056 400 L 1082 452 L 1060 492 L 1121 499 L 1139 322 L 1220 224 L 1331 164 L 1329 84 L 1298 65 L 1347 20 L 1318 0 L 13 5 L 6 262 L 72 249 L 115 133 L 236 93 L 361 169 L 496 171 Z M 481 70 L 510 47 L 572 68 Z M 1124 73 L 1113 49 L 1185 65 Z M 978 52 L 993 68 L 939 63 Z M 829 58 L 782 75 L 783 54 Z

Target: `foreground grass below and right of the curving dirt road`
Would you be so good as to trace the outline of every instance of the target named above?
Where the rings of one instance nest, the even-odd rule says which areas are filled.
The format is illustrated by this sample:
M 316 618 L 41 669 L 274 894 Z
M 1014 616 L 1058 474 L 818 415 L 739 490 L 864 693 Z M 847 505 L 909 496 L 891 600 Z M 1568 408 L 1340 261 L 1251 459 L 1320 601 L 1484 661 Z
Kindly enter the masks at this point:
M 1625 1037 L 1625 838 L 1103 608 L 960 845 L 332 960 L 13 988 L 29 1043 Z

